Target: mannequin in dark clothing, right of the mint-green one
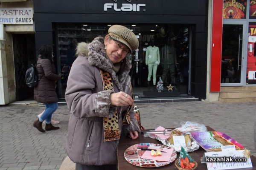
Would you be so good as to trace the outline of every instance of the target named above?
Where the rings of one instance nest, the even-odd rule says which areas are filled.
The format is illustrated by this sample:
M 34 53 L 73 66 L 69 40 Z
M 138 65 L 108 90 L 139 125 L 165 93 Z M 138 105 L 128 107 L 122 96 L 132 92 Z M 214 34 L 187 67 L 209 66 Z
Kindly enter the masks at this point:
M 166 76 L 168 71 L 170 72 L 170 81 L 168 83 L 175 84 L 175 66 L 177 65 L 176 59 L 176 49 L 174 47 L 174 42 L 167 39 L 167 44 L 161 48 L 161 54 L 163 55 L 163 83 L 166 82 Z M 167 79 L 168 80 L 168 79 Z M 169 84 L 168 84 L 169 85 Z

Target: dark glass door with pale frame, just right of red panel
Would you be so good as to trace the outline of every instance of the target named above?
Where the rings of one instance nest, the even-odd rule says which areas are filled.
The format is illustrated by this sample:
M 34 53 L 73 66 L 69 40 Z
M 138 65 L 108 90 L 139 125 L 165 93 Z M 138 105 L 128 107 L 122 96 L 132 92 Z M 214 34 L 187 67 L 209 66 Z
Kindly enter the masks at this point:
M 223 24 L 221 54 L 221 86 L 244 84 L 243 64 L 246 57 L 243 49 L 245 23 Z

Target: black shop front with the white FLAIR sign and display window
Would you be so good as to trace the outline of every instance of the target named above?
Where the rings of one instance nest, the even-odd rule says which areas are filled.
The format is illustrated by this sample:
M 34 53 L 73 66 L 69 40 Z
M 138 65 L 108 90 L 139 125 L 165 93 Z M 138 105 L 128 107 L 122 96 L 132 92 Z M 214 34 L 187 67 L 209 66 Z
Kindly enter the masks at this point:
M 129 56 L 134 95 L 206 96 L 208 0 L 75 0 L 72 5 L 61 0 L 35 1 L 34 13 L 36 49 L 46 43 L 54 47 L 61 74 L 59 99 L 64 99 L 76 43 L 105 36 L 114 24 L 133 30 L 140 42 Z M 150 46 L 159 51 L 151 73 L 147 67 Z

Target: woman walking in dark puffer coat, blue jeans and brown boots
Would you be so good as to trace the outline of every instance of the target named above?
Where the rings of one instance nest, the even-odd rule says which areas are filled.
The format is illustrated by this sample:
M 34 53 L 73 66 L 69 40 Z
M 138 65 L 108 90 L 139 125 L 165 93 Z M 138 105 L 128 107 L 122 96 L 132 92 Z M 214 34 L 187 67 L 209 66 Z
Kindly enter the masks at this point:
M 34 88 L 34 98 L 37 102 L 44 103 L 44 113 L 39 116 L 38 120 L 33 123 L 40 132 L 49 130 L 57 130 L 51 123 L 52 113 L 58 108 L 58 96 L 55 91 L 56 81 L 61 79 L 61 76 L 56 74 L 55 66 L 52 61 L 52 47 L 42 45 L 38 50 L 38 62 L 36 65 L 36 74 L 40 79 L 38 85 Z M 42 122 L 45 120 L 45 130 L 42 127 Z

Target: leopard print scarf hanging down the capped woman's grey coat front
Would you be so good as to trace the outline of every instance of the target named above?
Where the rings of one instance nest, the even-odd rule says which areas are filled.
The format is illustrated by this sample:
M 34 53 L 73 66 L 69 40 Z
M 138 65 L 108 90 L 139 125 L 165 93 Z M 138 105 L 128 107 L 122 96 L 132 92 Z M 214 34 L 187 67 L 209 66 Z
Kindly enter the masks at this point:
M 113 82 L 111 80 L 110 74 L 107 71 L 100 69 L 100 74 L 102 76 L 103 90 L 110 91 L 114 90 Z M 131 106 L 128 108 L 127 113 L 124 116 L 124 125 L 131 124 L 129 111 Z M 104 142 L 113 141 L 120 139 L 119 125 L 118 125 L 118 112 L 117 109 L 111 118 L 103 118 L 103 129 L 104 129 Z

